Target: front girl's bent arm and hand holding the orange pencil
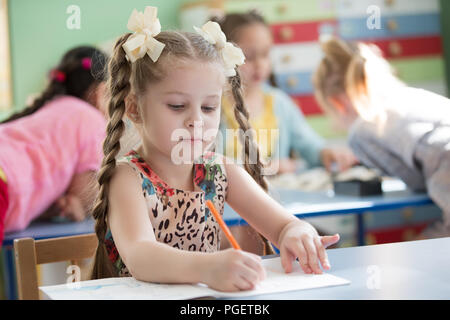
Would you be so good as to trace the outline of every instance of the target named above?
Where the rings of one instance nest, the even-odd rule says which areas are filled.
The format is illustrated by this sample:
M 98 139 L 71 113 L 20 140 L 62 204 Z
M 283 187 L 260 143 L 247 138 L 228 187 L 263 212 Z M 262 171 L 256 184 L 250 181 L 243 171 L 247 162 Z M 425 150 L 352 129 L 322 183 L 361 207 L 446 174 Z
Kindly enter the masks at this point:
M 264 278 L 260 258 L 229 249 L 190 252 L 156 240 L 139 177 L 119 165 L 111 179 L 108 224 L 120 256 L 138 280 L 162 283 L 206 283 L 223 291 L 251 289 Z

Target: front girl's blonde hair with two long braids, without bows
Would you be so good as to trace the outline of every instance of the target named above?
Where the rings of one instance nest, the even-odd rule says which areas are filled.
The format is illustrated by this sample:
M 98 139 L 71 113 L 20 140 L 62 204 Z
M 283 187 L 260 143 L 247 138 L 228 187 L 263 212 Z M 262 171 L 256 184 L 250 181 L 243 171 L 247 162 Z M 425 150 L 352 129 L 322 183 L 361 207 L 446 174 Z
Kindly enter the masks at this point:
M 125 99 L 131 92 L 137 96 L 143 94 L 149 84 L 162 79 L 165 75 L 164 70 L 167 67 L 167 63 L 172 63 L 173 60 L 171 59 L 173 58 L 222 63 L 220 52 L 214 45 L 207 42 L 198 34 L 178 31 L 161 32 L 155 37 L 156 40 L 165 44 L 165 48 L 156 63 L 147 55 L 134 63 L 130 63 L 126 59 L 125 52 L 122 49 L 122 45 L 130 35 L 131 33 L 127 33 L 116 41 L 113 55 L 108 64 L 109 121 L 106 128 L 107 136 L 103 143 L 104 158 L 98 173 L 99 191 L 93 209 L 93 217 L 96 219 L 95 232 L 99 240 L 91 276 L 93 279 L 117 276 L 108 258 L 105 236 L 107 231 L 106 217 L 109 204 L 109 184 L 116 168 L 116 156 L 120 151 L 120 138 L 125 130 L 123 121 Z M 234 113 L 236 120 L 240 128 L 246 132 L 250 129 L 249 115 L 244 106 L 241 78 L 238 72 L 236 72 L 235 76 L 229 77 L 229 85 L 235 101 Z M 243 145 L 246 155 L 245 169 L 262 188 L 267 190 L 267 183 L 261 173 L 262 163 L 260 161 L 259 150 L 254 139 L 246 137 Z M 254 149 L 256 149 L 257 163 L 250 164 L 250 150 Z M 272 253 L 273 250 L 269 251 L 272 248 L 268 241 L 264 238 L 263 240 L 265 240 L 265 252 Z

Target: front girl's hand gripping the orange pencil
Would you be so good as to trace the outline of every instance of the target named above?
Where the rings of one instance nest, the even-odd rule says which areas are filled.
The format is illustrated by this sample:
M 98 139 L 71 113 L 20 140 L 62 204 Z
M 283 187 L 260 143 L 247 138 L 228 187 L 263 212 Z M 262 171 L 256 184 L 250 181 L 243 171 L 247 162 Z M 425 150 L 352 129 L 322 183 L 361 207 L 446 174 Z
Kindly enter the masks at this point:
M 236 249 L 211 254 L 205 284 L 218 291 L 251 290 L 266 277 L 261 257 Z

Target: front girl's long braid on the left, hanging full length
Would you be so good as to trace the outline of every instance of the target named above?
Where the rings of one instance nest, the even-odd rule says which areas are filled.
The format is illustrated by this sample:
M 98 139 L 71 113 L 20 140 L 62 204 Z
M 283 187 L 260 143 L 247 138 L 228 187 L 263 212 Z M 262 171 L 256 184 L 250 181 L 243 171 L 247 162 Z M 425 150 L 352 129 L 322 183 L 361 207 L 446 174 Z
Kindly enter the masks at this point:
M 98 173 L 99 192 L 92 213 L 96 220 L 95 233 L 98 237 L 98 247 L 92 271 L 93 279 L 116 276 L 105 246 L 106 216 L 108 214 L 109 183 L 116 168 L 116 156 L 120 151 L 120 138 L 125 129 L 125 124 L 122 120 L 125 114 L 125 98 L 129 94 L 131 87 L 131 65 L 122 49 L 122 45 L 130 35 L 131 33 L 128 33 L 117 40 L 113 57 L 108 66 L 108 87 L 110 90 L 109 121 L 106 127 L 106 138 L 103 143 L 104 158 Z

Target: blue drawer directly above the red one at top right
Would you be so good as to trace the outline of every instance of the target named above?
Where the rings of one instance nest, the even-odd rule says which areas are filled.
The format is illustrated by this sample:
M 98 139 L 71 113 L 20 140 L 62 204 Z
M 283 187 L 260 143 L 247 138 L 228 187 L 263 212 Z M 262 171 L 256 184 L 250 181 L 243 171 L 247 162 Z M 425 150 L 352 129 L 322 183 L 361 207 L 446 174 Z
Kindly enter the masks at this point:
M 338 21 L 338 33 L 346 40 L 436 36 L 441 32 L 439 14 L 381 16 L 381 28 L 369 29 L 367 18 Z

